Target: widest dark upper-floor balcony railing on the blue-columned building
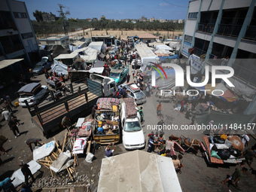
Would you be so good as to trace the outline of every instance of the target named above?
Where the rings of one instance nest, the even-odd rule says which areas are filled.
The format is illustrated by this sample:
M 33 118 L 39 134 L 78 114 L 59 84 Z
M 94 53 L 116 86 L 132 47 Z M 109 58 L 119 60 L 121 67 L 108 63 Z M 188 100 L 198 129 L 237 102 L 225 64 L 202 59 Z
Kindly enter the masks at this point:
M 226 35 L 237 37 L 239 35 L 240 30 L 242 29 L 242 25 L 225 25 L 220 24 L 218 26 L 218 35 Z

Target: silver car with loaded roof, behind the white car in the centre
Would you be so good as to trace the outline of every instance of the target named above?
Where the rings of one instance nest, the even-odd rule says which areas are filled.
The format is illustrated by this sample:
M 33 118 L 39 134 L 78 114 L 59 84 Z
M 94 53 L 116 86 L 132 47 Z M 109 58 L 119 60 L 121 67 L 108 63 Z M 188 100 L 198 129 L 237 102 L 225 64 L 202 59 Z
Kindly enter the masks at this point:
M 126 87 L 127 98 L 133 98 L 137 105 L 146 102 L 145 93 L 136 84 L 122 84 L 122 87 Z

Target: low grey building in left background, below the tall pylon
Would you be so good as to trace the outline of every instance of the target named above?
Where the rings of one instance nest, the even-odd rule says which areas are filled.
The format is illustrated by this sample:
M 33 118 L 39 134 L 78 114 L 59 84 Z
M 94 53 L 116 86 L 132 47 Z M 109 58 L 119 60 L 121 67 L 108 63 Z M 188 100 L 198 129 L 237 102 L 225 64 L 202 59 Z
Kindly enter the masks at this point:
M 69 35 L 57 35 L 47 38 L 39 38 L 41 45 L 62 45 L 67 47 L 69 45 Z

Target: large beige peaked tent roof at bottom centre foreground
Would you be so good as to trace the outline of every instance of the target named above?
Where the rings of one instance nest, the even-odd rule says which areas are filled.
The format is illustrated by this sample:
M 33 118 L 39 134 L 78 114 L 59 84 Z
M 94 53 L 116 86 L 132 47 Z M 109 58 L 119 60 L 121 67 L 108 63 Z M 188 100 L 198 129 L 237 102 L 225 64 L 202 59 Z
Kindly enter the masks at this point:
M 98 191 L 182 191 L 172 159 L 130 151 L 102 159 Z

